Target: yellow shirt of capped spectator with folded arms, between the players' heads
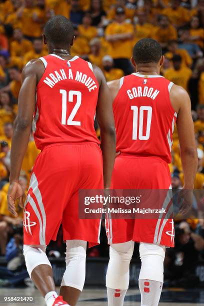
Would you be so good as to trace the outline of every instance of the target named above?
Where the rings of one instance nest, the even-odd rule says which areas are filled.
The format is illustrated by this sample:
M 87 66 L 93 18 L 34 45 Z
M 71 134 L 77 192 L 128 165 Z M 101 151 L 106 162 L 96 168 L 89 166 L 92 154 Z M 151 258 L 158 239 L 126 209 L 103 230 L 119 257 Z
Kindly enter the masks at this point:
M 105 35 L 134 33 L 133 25 L 130 23 L 112 22 L 105 29 Z M 108 54 L 112 58 L 130 58 L 132 55 L 132 40 L 117 40 L 109 43 Z

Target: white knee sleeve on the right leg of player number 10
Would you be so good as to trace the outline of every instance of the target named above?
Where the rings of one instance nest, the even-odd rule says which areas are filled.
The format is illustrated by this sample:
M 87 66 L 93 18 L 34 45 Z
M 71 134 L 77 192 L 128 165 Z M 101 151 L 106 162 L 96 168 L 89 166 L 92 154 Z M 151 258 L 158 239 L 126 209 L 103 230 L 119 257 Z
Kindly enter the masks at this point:
M 165 246 L 140 242 L 139 255 L 141 259 L 139 279 L 151 279 L 163 282 Z

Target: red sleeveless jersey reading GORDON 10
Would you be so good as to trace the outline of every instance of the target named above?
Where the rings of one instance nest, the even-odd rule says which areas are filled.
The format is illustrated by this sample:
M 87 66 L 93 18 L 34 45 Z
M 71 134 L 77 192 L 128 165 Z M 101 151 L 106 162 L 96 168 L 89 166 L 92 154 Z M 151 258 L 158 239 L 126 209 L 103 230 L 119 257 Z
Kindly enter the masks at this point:
M 161 75 L 132 73 L 120 79 L 113 102 L 117 151 L 171 162 L 177 116 L 169 98 L 172 84 Z

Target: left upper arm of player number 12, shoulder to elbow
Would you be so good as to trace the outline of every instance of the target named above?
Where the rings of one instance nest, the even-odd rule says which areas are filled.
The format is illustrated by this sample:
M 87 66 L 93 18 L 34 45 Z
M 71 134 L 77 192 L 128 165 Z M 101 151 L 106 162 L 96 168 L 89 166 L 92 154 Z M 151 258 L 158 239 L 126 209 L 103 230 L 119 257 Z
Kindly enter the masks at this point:
M 25 128 L 31 125 L 35 107 L 35 93 L 37 84 L 37 69 L 39 60 L 29 61 L 22 70 L 22 85 L 18 96 L 18 127 Z

